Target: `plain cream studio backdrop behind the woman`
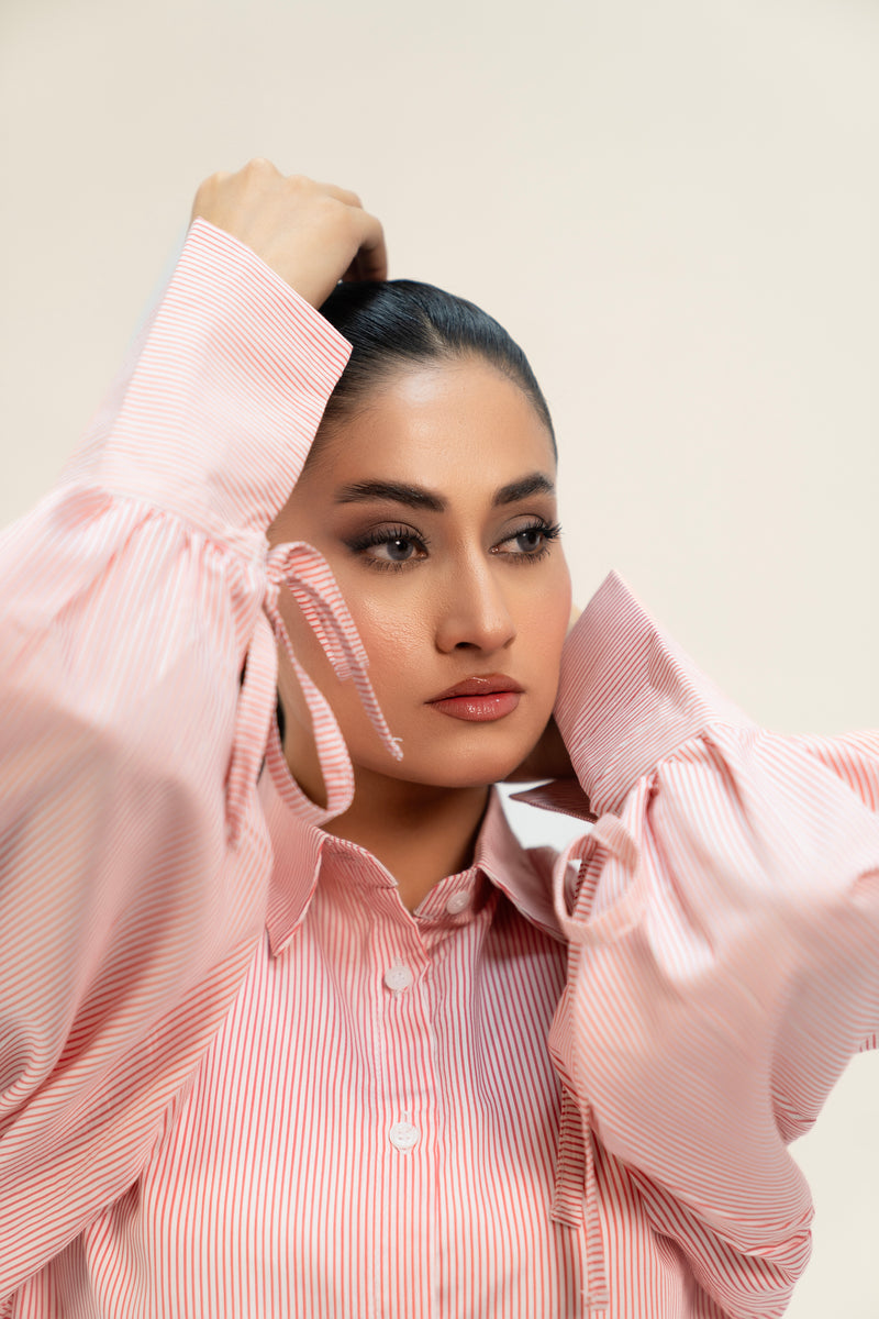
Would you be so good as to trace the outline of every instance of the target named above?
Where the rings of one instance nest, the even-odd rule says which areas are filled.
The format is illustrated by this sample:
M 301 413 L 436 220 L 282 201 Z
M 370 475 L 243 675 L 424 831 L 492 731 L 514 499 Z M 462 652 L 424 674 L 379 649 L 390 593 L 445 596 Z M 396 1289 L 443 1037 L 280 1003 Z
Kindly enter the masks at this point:
M 198 182 L 268 156 L 521 340 L 581 601 L 617 567 L 760 721 L 879 723 L 875 0 L 4 0 L 0 32 L 4 522 Z M 795 1146 L 796 1319 L 879 1314 L 878 1063 Z

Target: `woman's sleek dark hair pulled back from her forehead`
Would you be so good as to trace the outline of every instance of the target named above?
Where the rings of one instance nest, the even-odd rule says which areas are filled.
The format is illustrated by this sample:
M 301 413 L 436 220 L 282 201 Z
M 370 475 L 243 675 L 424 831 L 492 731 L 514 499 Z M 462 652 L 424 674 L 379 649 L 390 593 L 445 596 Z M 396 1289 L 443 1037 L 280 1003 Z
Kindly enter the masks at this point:
M 389 280 L 337 284 L 320 314 L 352 346 L 324 422 L 332 425 L 353 413 L 370 389 L 401 367 L 480 356 L 527 394 L 550 433 L 555 454 L 550 409 L 528 359 L 481 307 L 432 284 Z

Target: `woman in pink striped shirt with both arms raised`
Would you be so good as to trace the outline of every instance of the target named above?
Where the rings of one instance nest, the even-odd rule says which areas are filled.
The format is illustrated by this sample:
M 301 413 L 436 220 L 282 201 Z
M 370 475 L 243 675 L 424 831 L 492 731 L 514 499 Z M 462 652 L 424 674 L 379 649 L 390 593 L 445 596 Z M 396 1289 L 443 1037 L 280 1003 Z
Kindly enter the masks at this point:
M 618 579 L 565 642 L 527 363 L 333 293 L 356 198 L 195 216 L 4 543 L 7 1312 L 780 1314 L 784 1142 L 879 1018 L 875 739 L 755 729 Z M 557 860 L 489 786 L 553 708 Z

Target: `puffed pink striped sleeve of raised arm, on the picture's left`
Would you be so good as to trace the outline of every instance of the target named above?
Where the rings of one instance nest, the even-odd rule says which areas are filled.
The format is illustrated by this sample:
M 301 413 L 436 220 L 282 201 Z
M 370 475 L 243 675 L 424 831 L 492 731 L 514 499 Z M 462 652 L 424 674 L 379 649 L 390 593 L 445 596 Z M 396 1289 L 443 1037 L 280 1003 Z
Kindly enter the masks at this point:
M 261 935 L 283 575 L 332 615 L 326 565 L 265 532 L 348 352 L 196 222 L 0 539 L 0 1298 L 134 1181 Z

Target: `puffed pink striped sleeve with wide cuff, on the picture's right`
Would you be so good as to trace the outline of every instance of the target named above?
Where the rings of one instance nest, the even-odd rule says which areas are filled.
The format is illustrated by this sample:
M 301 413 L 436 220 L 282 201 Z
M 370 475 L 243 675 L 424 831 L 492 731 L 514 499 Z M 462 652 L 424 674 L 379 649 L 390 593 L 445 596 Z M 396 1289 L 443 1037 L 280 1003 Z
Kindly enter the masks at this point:
M 553 1059 L 723 1314 L 781 1315 L 812 1219 L 787 1142 L 879 1029 L 879 735 L 756 727 L 615 575 L 556 719 L 598 822 L 556 871 Z

